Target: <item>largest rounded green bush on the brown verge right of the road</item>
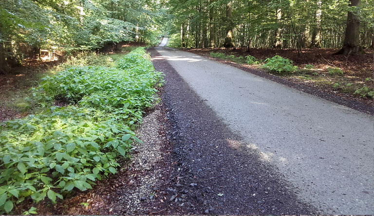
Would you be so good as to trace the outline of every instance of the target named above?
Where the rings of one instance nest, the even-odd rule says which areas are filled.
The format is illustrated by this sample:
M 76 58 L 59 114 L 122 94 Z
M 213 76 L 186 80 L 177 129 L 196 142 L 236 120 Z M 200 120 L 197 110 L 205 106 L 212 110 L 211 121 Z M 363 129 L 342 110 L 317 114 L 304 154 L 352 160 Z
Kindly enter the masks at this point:
M 295 72 L 297 70 L 297 66 L 293 65 L 293 61 L 282 58 L 279 55 L 276 55 L 272 58 L 266 58 L 265 64 L 262 65 L 262 68 L 265 68 L 272 72 Z

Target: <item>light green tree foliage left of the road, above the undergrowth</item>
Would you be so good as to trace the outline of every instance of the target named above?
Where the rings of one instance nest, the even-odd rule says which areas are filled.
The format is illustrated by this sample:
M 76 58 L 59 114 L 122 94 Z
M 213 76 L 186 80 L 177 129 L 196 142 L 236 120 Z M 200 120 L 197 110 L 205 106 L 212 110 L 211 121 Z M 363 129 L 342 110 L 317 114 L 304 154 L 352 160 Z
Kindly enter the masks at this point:
M 2 0 L 0 73 L 40 50 L 94 50 L 108 42 L 154 43 L 160 36 L 161 1 Z

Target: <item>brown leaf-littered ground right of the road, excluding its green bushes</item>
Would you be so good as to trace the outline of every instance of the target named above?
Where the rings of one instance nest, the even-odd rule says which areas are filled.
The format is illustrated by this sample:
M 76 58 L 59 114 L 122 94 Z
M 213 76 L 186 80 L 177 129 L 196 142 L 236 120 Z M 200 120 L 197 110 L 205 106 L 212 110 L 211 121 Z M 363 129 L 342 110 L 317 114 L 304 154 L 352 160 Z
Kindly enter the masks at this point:
M 300 56 L 297 50 L 277 50 L 277 49 L 251 49 L 248 53 L 246 49 L 184 49 L 185 51 L 200 54 L 205 57 L 219 60 L 222 63 L 230 64 L 234 67 L 240 66 L 247 69 L 256 69 L 294 84 L 301 84 L 306 87 L 318 89 L 321 92 L 337 95 L 343 99 L 349 99 L 368 106 L 373 106 L 373 97 L 365 95 L 365 92 L 357 93 L 363 87 L 368 87 L 368 91 L 374 89 L 374 59 L 373 50 L 366 50 L 366 54 L 361 55 L 333 55 L 337 52 L 334 49 L 304 49 Z M 300 70 L 288 74 L 276 74 L 261 69 L 261 65 L 247 65 L 231 62 L 219 58 L 213 58 L 210 53 L 224 53 L 236 57 L 252 55 L 264 61 L 268 57 L 280 55 L 288 58 L 298 66 Z M 306 65 L 313 65 L 314 68 L 307 70 Z M 332 75 L 329 68 L 339 68 L 344 75 Z M 245 70 L 245 69 L 244 69 Z M 366 91 L 366 92 L 368 92 Z M 356 92 L 356 93 L 355 93 Z

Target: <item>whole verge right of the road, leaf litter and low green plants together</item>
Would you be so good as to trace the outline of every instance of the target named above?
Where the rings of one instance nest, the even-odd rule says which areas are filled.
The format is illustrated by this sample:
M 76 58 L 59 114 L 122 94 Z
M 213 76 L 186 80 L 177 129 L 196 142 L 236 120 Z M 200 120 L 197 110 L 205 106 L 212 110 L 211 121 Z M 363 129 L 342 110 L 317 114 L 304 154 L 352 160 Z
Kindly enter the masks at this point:
M 374 96 L 373 54 L 332 55 L 335 51 L 326 49 L 308 49 L 303 51 L 301 57 L 292 50 L 251 49 L 254 56 L 247 55 L 243 49 L 214 48 L 188 51 L 247 64 L 254 69 L 262 68 L 265 72 L 293 82 L 342 93 L 355 100 L 364 99 L 363 102 L 366 103 L 371 103 Z

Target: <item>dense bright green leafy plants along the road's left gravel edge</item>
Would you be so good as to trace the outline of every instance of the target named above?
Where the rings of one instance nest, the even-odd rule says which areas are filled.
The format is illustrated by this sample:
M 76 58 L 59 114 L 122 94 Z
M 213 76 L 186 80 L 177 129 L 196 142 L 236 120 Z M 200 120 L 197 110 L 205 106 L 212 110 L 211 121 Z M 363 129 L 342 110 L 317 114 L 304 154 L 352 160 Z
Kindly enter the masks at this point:
M 0 213 L 25 199 L 55 202 L 116 173 L 118 156 L 141 142 L 133 130 L 161 80 L 144 48 L 113 67 L 72 67 L 43 78 L 33 92 L 44 111 L 1 123 Z M 61 98 L 72 105 L 52 106 Z

